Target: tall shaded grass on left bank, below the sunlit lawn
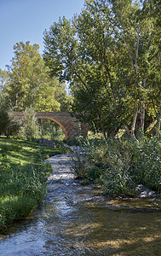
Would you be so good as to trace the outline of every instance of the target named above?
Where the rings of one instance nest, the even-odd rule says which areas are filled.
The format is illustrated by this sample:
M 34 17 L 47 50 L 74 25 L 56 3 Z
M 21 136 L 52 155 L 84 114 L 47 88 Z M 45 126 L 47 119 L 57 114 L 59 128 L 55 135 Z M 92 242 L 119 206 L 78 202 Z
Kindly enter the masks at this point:
M 0 228 L 17 218 L 26 217 L 46 193 L 47 174 L 51 166 L 12 165 L 0 170 Z

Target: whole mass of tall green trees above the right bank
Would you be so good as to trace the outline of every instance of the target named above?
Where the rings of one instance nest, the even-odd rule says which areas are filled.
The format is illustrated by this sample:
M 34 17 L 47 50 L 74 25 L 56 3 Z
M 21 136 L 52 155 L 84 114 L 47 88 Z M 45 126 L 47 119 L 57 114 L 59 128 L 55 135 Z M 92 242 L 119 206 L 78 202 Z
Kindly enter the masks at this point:
M 80 15 L 72 21 L 63 17 L 44 32 L 44 61 L 70 83 L 77 116 L 94 122 L 105 137 L 124 125 L 131 125 L 135 137 L 139 120 L 144 131 L 146 111 L 146 117 L 159 113 L 158 21 L 152 4 L 86 0 Z

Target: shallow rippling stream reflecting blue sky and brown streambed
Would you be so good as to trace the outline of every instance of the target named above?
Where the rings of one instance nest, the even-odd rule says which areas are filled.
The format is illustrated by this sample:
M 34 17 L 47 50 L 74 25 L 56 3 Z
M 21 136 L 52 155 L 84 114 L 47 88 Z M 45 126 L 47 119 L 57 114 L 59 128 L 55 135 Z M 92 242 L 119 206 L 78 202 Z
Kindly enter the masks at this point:
M 49 161 L 41 207 L 0 235 L 1 256 L 161 255 L 159 200 L 110 200 L 74 179 L 67 155 Z

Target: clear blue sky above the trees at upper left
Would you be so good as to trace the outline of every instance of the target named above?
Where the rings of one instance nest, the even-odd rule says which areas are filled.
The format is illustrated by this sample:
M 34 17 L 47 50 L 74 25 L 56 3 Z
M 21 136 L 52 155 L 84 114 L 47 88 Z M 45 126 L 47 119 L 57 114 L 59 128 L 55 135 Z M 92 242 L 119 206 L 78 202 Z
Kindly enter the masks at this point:
M 6 69 L 14 57 L 14 44 L 30 41 L 40 45 L 43 32 L 59 17 L 79 14 L 84 0 L 0 0 L 0 68 Z

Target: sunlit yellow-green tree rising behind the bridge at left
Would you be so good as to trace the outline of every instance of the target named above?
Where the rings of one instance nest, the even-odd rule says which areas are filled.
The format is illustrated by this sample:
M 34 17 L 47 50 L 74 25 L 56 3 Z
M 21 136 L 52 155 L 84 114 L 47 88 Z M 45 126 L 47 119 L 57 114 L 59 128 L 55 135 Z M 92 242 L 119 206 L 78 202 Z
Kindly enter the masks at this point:
M 30 42 L 14 45 L 12 65 L 8 66 L 9 84 L 5 91 L 15 111 L 23 111 L 31 106 L 35 111 L 57 111 L 60 103 L 55 100 L 55 83 L 49 78 L 38 44 Z

